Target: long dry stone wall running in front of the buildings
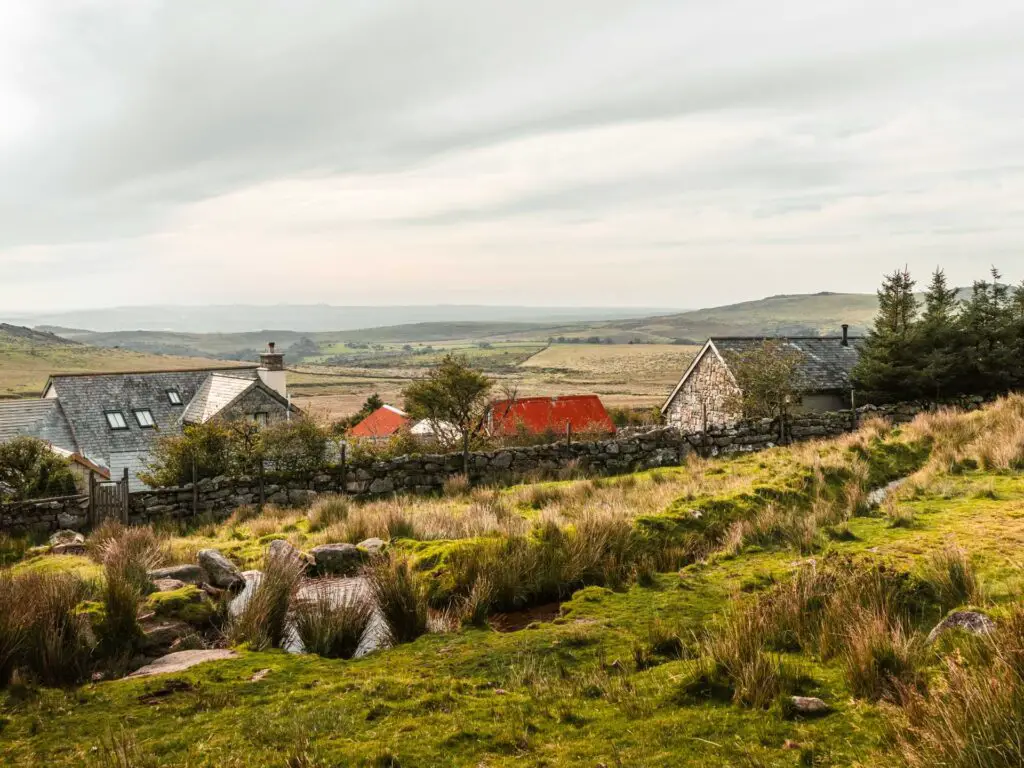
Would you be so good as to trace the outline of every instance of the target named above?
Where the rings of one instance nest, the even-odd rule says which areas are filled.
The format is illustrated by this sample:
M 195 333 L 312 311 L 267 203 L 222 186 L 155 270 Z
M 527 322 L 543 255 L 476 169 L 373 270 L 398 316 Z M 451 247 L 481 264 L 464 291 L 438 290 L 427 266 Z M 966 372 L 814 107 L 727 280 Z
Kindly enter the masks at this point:
M 964 409 L 976 409 L 980 398 L 959 400 Z M 681 464 L 691 453 L 714 457 L 763 451 L 779 443 L 827 438 L 855 428 L 870 416 L 905 423 L 928 403 L 901 403 L 882 408 L 806 414 L 793 417 L 785 425 L 765 419 L 710 429 L 683 432 L 674 427 L 652 429 L 642 434 L 618 436 L 593 442 L 565 442 L 529 447 L 505 449 L 470 455 L 470 479 L 492 484 L 511 483 L 538 475 L 557 477 L 572 471 L 593 475 L 613 475 Z M 189 520 L 195 517 L 226 517 L 242 506 L 265 503 L 305 506 L 317 496 L 347 494 L 359 498 L 395 493 L 429 494 L 462 474 L 461 454 L 406 456 L 387 461 L 352 462 L 308 476 L 267 475 L 216 477 L 201 480 L 195 487 L 155 488 L 129 496 L 132 523 L 158 520 Z M 0 530 L 10 532 L 52 531 L 82 528 L 86 523 L 88 499 L 69 497 L 0 506 Z

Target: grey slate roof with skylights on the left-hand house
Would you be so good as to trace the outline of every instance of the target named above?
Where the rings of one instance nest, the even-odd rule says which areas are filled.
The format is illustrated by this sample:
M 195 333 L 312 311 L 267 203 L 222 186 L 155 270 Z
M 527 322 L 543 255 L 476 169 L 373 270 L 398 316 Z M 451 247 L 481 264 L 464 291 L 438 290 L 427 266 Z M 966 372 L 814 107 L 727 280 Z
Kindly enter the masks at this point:
M 186 404 L 211 374 L 252 382 L 257 378 L 256 368 L 55 375 L 50 377 L 44 397 L 55 394 L 59 398 L 73 425 L 79 452 L 94 459 L 105 459 L 113 454 L 148 452 L 161 434 L 177 433 Z M 180 406 L 171 404 L 167 392 L 172 389 L 180 395 Z M 155 428 L 144 429 L 138 425 L 132 413 L 137 409 L 152 412 Z M 106 422 L 109 411 L 120 411 L 128 428 L 111 429 Z

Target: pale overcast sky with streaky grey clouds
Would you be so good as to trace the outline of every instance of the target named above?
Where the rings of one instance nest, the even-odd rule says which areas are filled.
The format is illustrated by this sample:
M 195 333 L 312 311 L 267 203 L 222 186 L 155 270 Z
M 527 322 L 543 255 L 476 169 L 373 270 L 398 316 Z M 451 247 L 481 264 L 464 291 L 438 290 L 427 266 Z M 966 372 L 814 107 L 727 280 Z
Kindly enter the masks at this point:
M 7 0 L 0 313 L 1024 278 L 1020 0 Z

